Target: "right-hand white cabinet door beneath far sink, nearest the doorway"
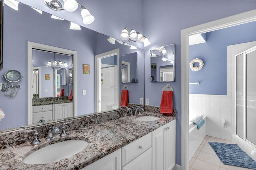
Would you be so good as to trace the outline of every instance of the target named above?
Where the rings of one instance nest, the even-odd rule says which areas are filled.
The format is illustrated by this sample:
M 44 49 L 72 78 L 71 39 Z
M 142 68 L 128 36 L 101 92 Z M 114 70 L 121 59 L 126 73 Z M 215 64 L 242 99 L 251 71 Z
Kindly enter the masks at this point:
M 166 170 L 172 170 L 172 168 L 176 164 L 175 159 L 175 152 L 176 152 L 176 143 L 175 143 L 175 131 L 176 131 L 176 120 L 171 121 L 170 123 L 166 124 L 166 128 L 168 129 L 166 131 L 166 145 L 165 145 L 165 169 Z

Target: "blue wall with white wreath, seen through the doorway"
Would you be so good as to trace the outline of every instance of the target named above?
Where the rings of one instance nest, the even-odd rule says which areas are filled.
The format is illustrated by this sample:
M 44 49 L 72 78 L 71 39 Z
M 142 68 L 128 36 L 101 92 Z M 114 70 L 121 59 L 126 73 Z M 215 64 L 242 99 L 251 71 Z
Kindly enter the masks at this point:
M 189 46 L 189 60 L 200 58 L 204 67 L 189 69 L 190 94 L 227 95 L 227 46 L 256 41 L 256 21 L 207 33 L 206 43 Z

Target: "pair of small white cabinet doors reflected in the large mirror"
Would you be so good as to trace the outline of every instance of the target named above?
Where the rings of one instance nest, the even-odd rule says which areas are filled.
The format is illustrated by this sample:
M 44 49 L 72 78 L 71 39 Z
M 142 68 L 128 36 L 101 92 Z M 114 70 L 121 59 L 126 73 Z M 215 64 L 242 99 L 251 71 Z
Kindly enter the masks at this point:
M 73 103 L 55 104 L 55 119 L 73 116 Z

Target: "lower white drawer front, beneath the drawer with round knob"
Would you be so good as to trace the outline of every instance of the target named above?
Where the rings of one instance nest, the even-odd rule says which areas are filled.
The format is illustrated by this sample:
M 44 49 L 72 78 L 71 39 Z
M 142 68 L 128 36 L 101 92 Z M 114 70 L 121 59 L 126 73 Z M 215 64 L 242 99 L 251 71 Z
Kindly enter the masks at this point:
M 152 170 L 152 149 L 146 150 L 140 156 L 122 167 L 121 170 Z

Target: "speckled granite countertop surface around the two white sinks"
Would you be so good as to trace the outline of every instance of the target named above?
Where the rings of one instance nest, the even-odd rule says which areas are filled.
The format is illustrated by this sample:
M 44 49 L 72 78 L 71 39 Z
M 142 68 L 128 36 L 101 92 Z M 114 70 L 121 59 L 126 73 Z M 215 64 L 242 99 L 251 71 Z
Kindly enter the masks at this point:
M 136 120 L 136 117 L 144 115 L 154 115 L 160 117 L 160 119 L 156 121 Z M 176 119 L 176 116 L 143 111 L 142 115 L 121 117 L 99 124 L 88 125 L 79 130 L 67 131 L 68 135 L 66 137 L 56 135 L 56 139 L 52 141 L 46 141 L 45 138 L 40 139 L 41 143 L 38 145 L 30 145 L 31 141 L 28 141 L 21 145 L 2 149 L 0 150 L 0 165 L 2 164 L 2 169 L 16 170 L 81 169 L 174 119 Z M 31 165 L 22 162 L 26 156 L 42 147 L 70 139 L 82 139 L 88 141 L 89 145 L 71 157 L 52 163 Z

